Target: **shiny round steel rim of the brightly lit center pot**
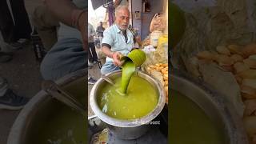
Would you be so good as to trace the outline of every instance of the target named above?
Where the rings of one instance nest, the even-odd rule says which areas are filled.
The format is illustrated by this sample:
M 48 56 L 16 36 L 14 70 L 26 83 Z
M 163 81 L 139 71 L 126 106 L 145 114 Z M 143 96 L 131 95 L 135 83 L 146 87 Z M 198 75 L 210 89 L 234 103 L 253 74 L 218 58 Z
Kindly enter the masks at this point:
M 106 76 L 110 77 L 112 75 L 120 74 L 120 73 L 122 73 L 122 70 L 116 70 L 116 71 L 110 72 L 109 74 L 106 74 Z M 148 74 L 142 73 L 141 71 L 135 71 L 134 74 L 137 74 L 142 78 L 149 78 L 150 81 L 153 82 L 154 86 L 156 86 L 159 94 L 157 106 L 155 106 L 154 110 L 151 110 L 149 114 L 146 114 L 142 118 L 135 118 L 130 120 L 112 118 L 107 114 L 103 113 L 98 106 L 98 102 L 96 99 L 97 98 L 96 89 L 98 88 L 98 85 L 100 83 L 105 81 L 103 78 L 99 78 L 98 81 L 94 84 L 92 90 L 90 91 L 90 107 L 94 111 L 94 114 L 96 114 L 98 118 L 100 118 L 103 122 L 106 122 L 107 124 L 110 124 L 112 126 L 118 126 L 118 127 L 136 127 L 136 126 L 142 126 L 152 121 L 154 118 L 158 116 L 158 114 L 161 113 L 166 102 L 166 94 L 163 90 L 163 87 L 160 86 L 160 83 L 157 80 L 150 77 Z

